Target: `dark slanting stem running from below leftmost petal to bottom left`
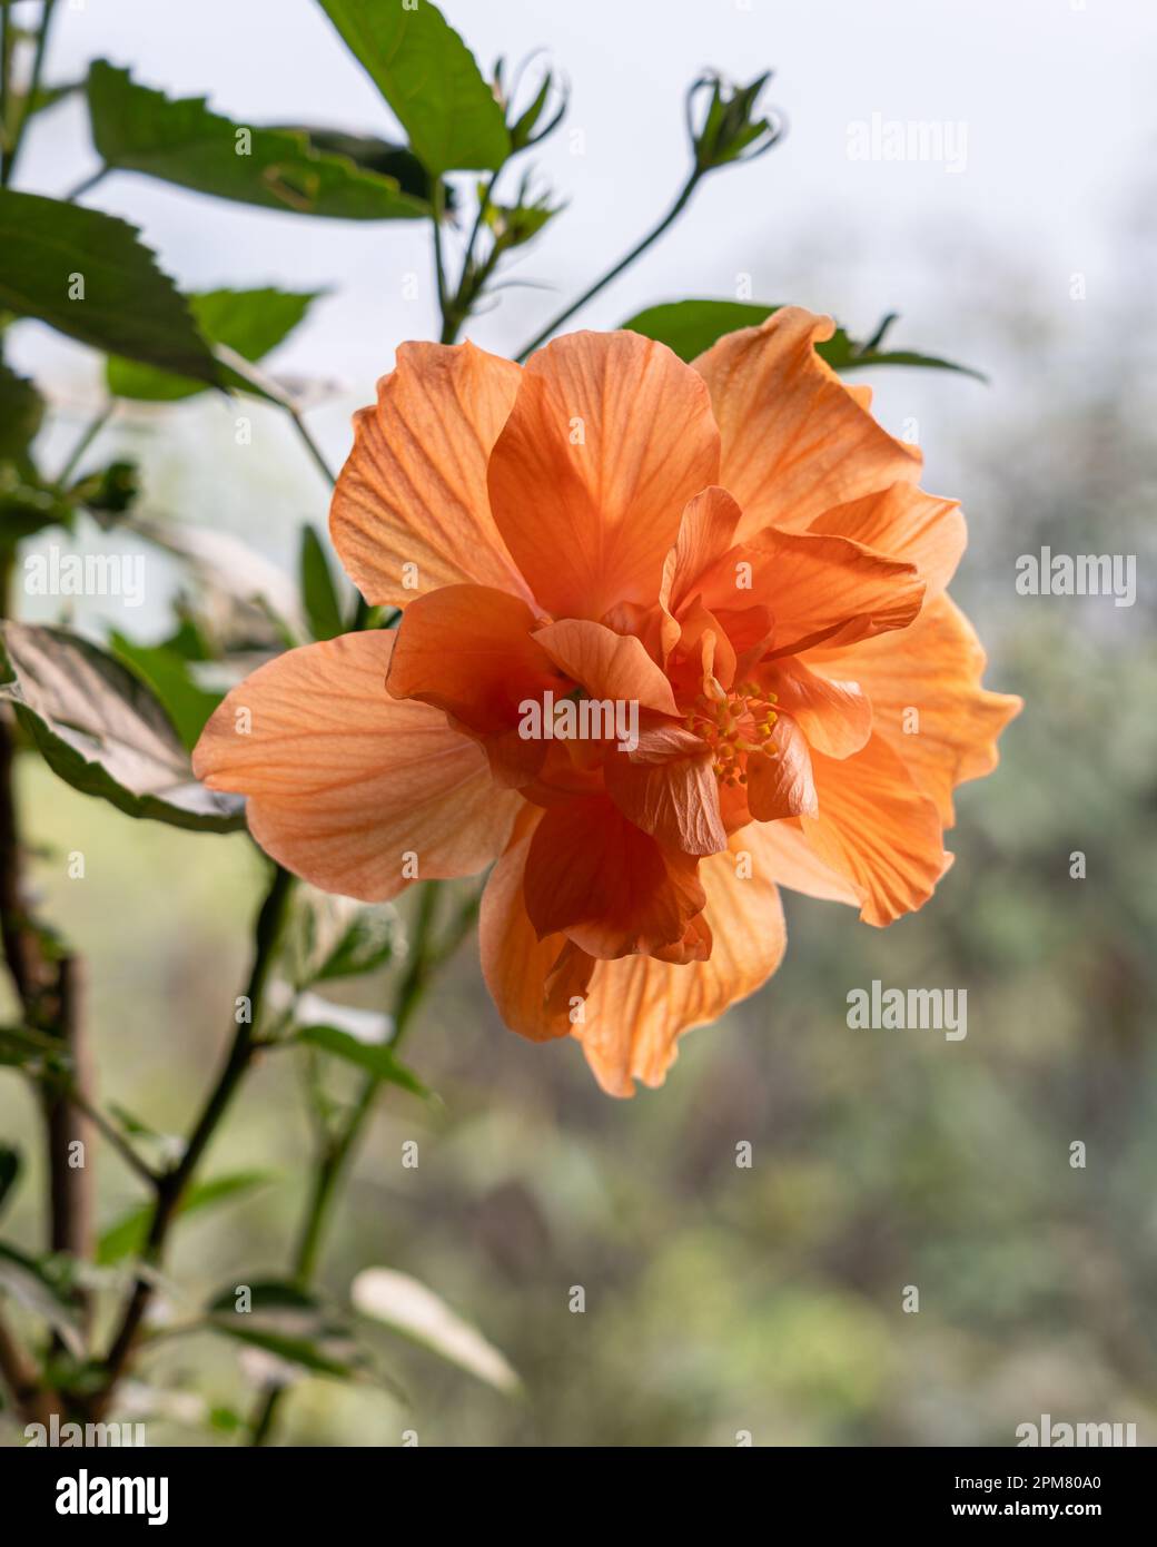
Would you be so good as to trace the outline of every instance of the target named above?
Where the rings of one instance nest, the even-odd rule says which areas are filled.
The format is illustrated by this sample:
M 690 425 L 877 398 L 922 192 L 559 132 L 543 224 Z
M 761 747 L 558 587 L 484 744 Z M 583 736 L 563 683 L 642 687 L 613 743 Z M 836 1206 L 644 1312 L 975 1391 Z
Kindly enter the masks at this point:
M 232 1100 L 237 1086 L 241 1083 L 249 1063 L 254 1057 L 254 1040 L 255 1029 L 260 1021 L 260 1012 L 265 999 L 265 990 L 269 981 L 269 973 L 274 965 L 277 954 L 277 947 L 282 937 L 282 930 L 285 927 L 289 896 L 292 891 L 294 877 L 289 871 L 283 869 L 280 865 L 274 869 L 269 890 L 266 891 L 261 910 L 257 916 L 257 925 L 254 928 L 254 959 L 249 968 L 249 981 L 246 985 L 246 998 L 249 999 L 249 1018 L 241 1021 L 234 1033 L 229 1054 L 221 1067 L 213 1089 L 210 1091 L 201 1115 L 192 1128 L 189 1142 L 186 1145 L 184 1154 L 172 1171 L 167 1171 L 158 1179 L 158 1197 L 153 1207 L 153 1214 L 148 1224 L 148 1233 L 145 1238 L 145 1245 L 142 1258 L 148 1264 L 156 1264 L 161 1259 L 164 1250 L 169 1228 L 176 1216 L 181 1205 L 184 1190 L 189 1185 L 193 1171 L 196 1170 L 201 1156 L 209 1146 L 209 1142 L 220 1123 L 221 1117 Z M 105 1381 L 94 1398 L 93 1411 L 96 1416 L 104 1412 L 111 1400 L 113 1389 L 124 1374 L 128 1357 L 133 1351 L 136 1335 L 141 1329 L 144 1313 L 148 1309 L 148 1303 L 153 1295 L 153 1284 L 148 1278 L 139 1276 L 133 1286 L 128 1306 L 125 1307 L 124 1316 L 121 1320 L 119 1329 L 108 1354 L 104 1360 Z

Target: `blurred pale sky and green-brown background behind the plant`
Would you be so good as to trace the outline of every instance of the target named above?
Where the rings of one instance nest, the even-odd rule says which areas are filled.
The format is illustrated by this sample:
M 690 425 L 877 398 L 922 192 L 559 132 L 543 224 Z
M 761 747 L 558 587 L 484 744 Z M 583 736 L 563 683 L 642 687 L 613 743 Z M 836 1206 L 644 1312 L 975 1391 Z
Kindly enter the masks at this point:
M 772 0 L 501 0 L 445 12 L 483 65 L 543 46 L 571 79 L 566 124 L 537 155 L 569 200 L 523 257 L 551 292 L 504 292 L 467 333 L 514 353 L 656 218 L 685 169 L 682 91 L 713 65 L 770 67 L 786 141 L 718 173 L 674 232 L 577 325 L 645 305 L 750 297 L 831 311 L 889 343 L 985 371 L 880 370 L 877 412 L 919 439 L 925 487 L 961 497 L 970 549 L 953 594 L 990 651 L 987 685 L 1022 716 L 999 770 L 965 786 L 934 900 L 888 931 L 787 896 L 772 984 L 688 1035 L 660 1092 L 600 1095 L 575 1044 L 506 1032 L 473 941 L 415 1026 L 407 1060 L 442 1108 L 387 1094 L 329 1239 L 323 1281 L 413 1273 L 473 1321 L 524 1381 L 507 1400 L 399 1340 L 382 1357 L 408 1394 L 303 1380 L 282 1411 L 297 1443 L 1012 1445 L 1024 1422 L 1132 1422 L 1157 1434 L 1157 651 L 1151 583 L 1157 486 L 1148 8 L 1103 0 L 937 6 Z M 390 133 L 388 113 L 308 3 L 145 0 L 62 6 L 53 79 L 105 56 L 172 94 L 209 93 L 240 119 Z M 874 113 L 965 125 L 959 170 L 857 161 Z M 580 130 L 580 138 L 572 131 Z M 59 193 L 96 166 L 84 111 L 29 131 L 19 183 Z M 421 223 L 299 221 L 114 175 L 90 203 L 141 224 L 187 288 L 326 289 L 272 357 L 322 384 L 311 424 L 331 461 L 348 419 L 407 337 L 435 325 Z M 416 278 L 415 278 L 416 277 Z M 407 299 L 416 283 L 416 299 Z M 22 325 L 9 360 L 57 410 L 62 453 L 101 399 L 96 356 Z M 145 507 L 243 535 L 292 566 L 326 490 L 275 410 L 252 446 L 207 398 L 125 410 L 102 436 L 145 469 Z M 51 463 L 51 456 L 49 456 Z M 59 534 L 56 535 L 59 540 Z M 48 535 L 43 538 L 48 541 Z M 122 537 L 77 541 L 121 551 Z M 1135 554 L 1137 603 L 1021 597 L 1015 562 Z M 28 545 L 28 551 L 36 551 Z M 175 572 L 148 555 L 144 608 L 76 605 L 94 634 L 170 627 Z M 28 602 L 26 617 L 59 616 Z M 230 1030 L 261 885 L 243 835 L 135 823 L 25 760 L 43 911 L 90 961 L 104 1098 L 186 1128 Z M 65 877 L 82 849 L 84 882 Z M 1070 879 L 1070 854 L 1087 879 Z M 408 902 L 404 905 L 405 913 Z M 968 1035 L 857 1032 L 849 989 L 956 985 Z M 235 987 L 237 985 L 237 987 Z M 388 973 L 360 979 L 387 1002 Z M 282 1055 L 285 1057 L 285 1055 Z M 0 1132 L 39 1151 L 37 1114 L 0 1072 Z M 418 1139 L 421 1165 L 401 1166 Z M 753 1163 L 735 1163 L 750 1142 Z M 1087 1149 L 1084 1170 L 1070 1145 Z M 265 1187 L 190 1217 L 172 1278 L 196 1298 L 285 1272 L 306 1187 L 308 1122 L 288 1057 L 258 1067 L 207 1173 Z M 138 1200 L 111 1156 L 102 1219 Z M 6 1222 L 34 1245 L 36 1165 Z M 568 1309 L 583 1286 L 586 1310 Z M 905 1313 L 906 1286 L 919 1313 Z M 227 1340 L 158 1344 L 141 1385 L 150 1443 L 204 1443 L 201 1419 L 247 1411 Z

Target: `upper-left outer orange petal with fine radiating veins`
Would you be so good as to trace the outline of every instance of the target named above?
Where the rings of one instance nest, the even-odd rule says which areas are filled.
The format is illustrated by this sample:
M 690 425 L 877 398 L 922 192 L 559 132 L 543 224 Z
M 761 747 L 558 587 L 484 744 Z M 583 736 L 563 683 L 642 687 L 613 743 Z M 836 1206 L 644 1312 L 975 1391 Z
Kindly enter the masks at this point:
M 334 548 L 367 602 L 405 606 L 467 580 L 531 597 L 486 489 L 520 379 L 517 365 L 473 343 L 398 350 L 376 405 L 354 415 L 329 507 Z

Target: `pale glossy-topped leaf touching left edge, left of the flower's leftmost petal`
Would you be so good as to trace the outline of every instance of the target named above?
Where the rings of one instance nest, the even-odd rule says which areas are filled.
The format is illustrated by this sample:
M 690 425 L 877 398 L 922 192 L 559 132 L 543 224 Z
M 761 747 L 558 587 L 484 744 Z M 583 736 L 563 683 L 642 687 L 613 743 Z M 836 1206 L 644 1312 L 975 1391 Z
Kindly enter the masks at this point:
M 6 622 L 0 640 L 9 678 L 0 699 L 67 784 L 175 828 L 244 826 L 241 803 L 196 781 L 164 709 L 119 661 L 56 628 Z

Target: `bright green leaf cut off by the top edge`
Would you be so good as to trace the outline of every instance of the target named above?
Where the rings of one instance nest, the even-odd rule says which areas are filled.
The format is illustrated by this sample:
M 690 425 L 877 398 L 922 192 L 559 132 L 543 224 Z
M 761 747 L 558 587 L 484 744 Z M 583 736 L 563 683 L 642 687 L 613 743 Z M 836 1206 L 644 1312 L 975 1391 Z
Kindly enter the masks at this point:
M 503 110 L 473 54 L 430 0 L 320 0 L 433 176 L 497 172 L 510 155 Z

